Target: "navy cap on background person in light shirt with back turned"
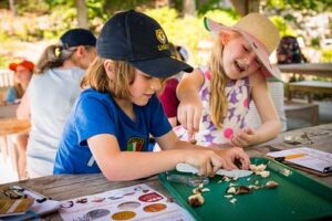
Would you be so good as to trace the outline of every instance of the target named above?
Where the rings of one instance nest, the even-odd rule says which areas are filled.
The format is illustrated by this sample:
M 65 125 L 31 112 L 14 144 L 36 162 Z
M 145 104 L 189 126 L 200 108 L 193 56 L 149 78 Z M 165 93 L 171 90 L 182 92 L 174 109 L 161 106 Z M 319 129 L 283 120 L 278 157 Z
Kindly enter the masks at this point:
M 60 36 L 60 42 L 64 48 L 95 46 L 96 38 L 86 29 L 71 29 Z

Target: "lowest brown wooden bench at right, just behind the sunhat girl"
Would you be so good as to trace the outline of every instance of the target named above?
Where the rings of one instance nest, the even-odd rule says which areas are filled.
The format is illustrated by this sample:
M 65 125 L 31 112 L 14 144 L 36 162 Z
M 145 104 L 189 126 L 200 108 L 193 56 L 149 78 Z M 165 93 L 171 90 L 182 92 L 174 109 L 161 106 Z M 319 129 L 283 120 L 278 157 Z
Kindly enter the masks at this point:
M 318 104 L 286 101 L 284 114 L 287 118 L 289 117 L 309 118 L 312 126 L 319 124 Z

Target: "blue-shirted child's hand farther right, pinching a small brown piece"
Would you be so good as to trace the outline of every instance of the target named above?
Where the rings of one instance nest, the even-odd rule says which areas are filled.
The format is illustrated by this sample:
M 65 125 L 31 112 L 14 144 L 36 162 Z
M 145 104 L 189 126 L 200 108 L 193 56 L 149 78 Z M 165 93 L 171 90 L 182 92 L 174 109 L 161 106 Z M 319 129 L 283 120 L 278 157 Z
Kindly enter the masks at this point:
M 218 155 L 225 160 L 224 169 L 249 169 L 249 156 L 240 147 L 220 148 Z M 240 162 L 240 168 L 237 166 Z

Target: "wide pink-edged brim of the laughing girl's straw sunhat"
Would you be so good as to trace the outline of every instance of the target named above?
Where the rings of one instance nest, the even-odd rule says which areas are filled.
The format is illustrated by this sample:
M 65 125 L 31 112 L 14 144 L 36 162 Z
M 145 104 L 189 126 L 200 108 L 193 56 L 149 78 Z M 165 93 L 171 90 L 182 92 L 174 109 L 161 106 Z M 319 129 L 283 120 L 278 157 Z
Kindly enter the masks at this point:
M 235 32 L 240 33 L 243 36 L 243 39 L 248 42 L 250 48 L 252 49 L 252 51 L 257 55 L 258 60 L 260 61 L 260 63 L 262 65 L 260 67 L 261 73 L 267 77 L 273 76 L 282 82 L 280 71 L 276 66 L 271 65 L 270 60 L 269 60 L 269 54 L 264 50 L 263 45 L 255 36 L 250 35 L 237 28 L 222 25 L 222 24 L 215 22 L 214 20 L 208 19 L 208 18 L 204 18 L 204 24 L 208 31 L 214 32 L 214 33 L 219 33 L 220 31 L 235 31 Z

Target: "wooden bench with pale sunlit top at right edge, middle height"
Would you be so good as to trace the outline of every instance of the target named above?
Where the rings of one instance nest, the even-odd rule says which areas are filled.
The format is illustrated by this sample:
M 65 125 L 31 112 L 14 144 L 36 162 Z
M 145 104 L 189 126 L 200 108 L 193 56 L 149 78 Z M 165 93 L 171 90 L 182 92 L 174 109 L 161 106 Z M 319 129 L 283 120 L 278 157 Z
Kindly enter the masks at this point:
M 308 94 L 308 102 L 312 103 L 312 93 L 332 94 L 332 82 L 303 81 L 292 82 L 287 85 L 288 101 L 292 99 L 293 92 L 304 92 Z

